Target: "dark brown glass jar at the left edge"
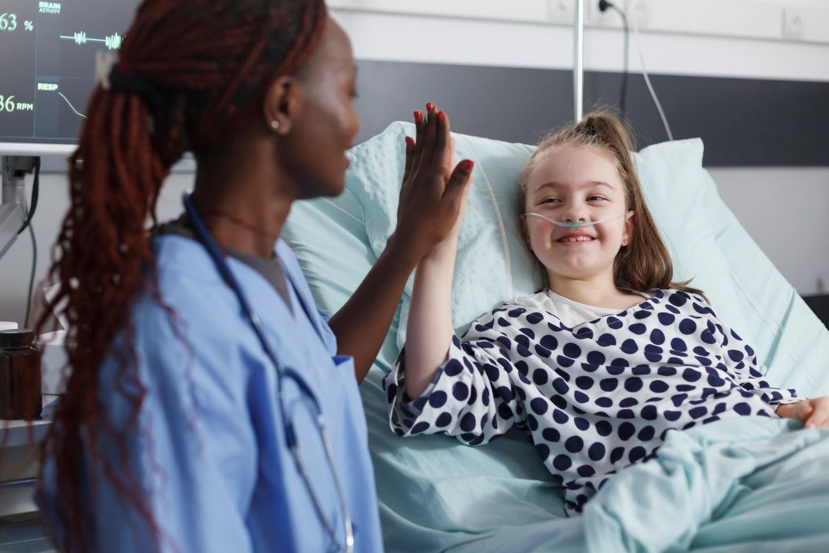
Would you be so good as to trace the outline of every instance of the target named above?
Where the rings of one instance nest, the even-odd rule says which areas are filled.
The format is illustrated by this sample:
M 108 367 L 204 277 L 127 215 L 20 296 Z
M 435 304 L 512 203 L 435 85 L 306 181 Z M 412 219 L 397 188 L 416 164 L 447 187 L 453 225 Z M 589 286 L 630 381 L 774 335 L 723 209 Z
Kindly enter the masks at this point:
M 27 328 L 0 331 L 0 419 L 41 415 L 41 354 L 34 344 Z

